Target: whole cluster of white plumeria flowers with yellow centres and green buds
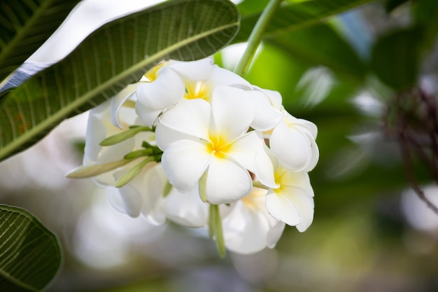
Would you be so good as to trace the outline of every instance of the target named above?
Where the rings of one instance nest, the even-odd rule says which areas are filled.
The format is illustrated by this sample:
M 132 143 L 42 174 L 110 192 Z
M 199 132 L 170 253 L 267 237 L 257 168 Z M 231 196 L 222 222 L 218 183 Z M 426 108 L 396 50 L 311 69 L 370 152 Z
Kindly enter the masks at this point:
M 207 226 L 220 253 L 272 248 L 313 221 L 317 128 L 213 64 L 169 60 L 90 111 L 83 166 L 113 207 L 154 224 Z

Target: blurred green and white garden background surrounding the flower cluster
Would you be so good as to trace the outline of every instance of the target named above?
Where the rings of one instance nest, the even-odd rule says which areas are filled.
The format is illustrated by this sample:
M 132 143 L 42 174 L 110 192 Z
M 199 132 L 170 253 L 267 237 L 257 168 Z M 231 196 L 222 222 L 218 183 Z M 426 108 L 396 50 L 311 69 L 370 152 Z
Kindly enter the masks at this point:
M 240 7 L 244 14 L 266 3 Z M 264 39 L 246 78 L 316 123 L 320 148 L 310 174 L 313 224 L 304 233 L 286 228 L 274 250 L 220 259 L 206 230 L 148 225 L 118 214 L 90 181 L 64 179 L 82 160 L 85 115 L 3 162 L 1 202 L 31 211 L 64 247 L 49 291 L 437 291 L 438 214 L 410 188 L 438 205 L 438 149 L 428 144 L 428 123 L 438 123 L 430 120 L 437 15 L 436 0 L 375 1 Z M 217 62 L 232 69 L 243 46 Z M 407 165 L 400 133 L 430 148 L 407 148 Z

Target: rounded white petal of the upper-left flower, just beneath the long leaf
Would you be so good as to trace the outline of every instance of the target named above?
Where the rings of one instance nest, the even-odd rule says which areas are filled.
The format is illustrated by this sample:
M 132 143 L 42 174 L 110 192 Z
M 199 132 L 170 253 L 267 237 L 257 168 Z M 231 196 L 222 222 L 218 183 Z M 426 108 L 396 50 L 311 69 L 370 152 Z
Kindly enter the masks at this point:
M 184 93 L 183 80 L 169 67 L 162 67 L 155 81 L 139 83 L 136 89 L 137 100 L 151 111 L 173 106 L 183 98 Z

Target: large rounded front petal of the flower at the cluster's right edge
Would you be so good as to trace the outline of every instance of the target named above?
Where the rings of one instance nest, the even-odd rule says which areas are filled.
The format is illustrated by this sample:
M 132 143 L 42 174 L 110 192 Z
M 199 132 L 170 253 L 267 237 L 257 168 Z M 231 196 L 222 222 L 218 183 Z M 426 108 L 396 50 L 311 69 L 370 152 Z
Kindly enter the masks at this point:
M 269 146 L 278 162 L 292 171 L 300 172 L 313 161 L 311 144 L 306 134 L 283 122 L 274 128 L 269 138 Z

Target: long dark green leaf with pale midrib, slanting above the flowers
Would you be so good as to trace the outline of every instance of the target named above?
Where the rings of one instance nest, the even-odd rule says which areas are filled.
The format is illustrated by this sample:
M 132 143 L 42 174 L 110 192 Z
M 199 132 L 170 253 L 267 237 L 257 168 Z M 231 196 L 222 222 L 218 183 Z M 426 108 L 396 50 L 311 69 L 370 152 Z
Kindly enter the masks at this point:
M 238 27 L 239 11 L 226 0 L 165 2 L 104 25 L 62 62 L 3 98 L 0 160 L 139 81 L 160 60 L 216 53 Z

